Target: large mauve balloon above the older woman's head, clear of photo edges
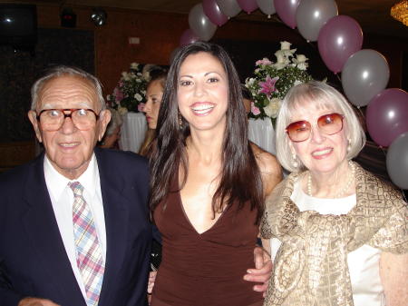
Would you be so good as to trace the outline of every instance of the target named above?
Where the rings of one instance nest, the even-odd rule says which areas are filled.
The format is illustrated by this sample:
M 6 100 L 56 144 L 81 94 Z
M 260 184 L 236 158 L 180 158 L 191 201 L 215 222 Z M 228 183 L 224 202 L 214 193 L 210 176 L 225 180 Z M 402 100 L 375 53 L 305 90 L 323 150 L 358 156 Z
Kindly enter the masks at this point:
M 352 17 L 338 15 L 322 26 L 317 44 L 325 65 L 337 74 L 350 55 L 361 50 L 363 31 Z

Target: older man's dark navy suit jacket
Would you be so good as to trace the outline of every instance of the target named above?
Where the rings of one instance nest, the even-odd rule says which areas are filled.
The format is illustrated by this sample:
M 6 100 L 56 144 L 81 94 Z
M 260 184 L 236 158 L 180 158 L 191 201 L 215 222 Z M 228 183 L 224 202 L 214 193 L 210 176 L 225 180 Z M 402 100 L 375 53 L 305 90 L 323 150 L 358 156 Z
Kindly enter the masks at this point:
M 147 160 L 95 149 L 106 226 L 99 306 L 145 305 L 151 250 Z M 0 305 L 39 297 L 85 306 L 44 179 L 44 154 L 0 175 Z

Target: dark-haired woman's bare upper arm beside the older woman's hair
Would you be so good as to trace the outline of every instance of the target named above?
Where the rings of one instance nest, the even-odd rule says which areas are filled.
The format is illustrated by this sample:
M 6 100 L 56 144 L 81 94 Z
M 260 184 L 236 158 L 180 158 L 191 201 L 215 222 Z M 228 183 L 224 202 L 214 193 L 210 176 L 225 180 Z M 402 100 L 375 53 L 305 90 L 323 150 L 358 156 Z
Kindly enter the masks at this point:
M 262 150 L 255 143 L 251 143 L 251 147 L 257 159 L 257 166 L 259 167 L 264 184 L 265 196 L 267 196 L 272 192 L 277 183 L 282 181 L 282 167 L 277 162 L 277 158 L 271 153 Z

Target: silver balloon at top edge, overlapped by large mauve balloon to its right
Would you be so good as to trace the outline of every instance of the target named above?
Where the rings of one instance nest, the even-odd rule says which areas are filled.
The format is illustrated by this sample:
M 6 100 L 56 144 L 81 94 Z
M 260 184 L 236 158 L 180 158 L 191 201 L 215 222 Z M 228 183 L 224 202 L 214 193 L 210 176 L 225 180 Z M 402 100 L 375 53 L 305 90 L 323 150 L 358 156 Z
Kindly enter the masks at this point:
M 316 42 L 322 26 L 336 15 L 334 0 L 302 0 L 296 9 L 297 29 L 307 41 Z

